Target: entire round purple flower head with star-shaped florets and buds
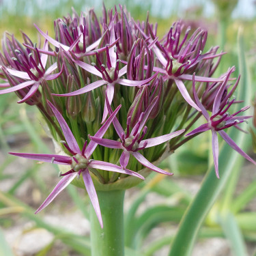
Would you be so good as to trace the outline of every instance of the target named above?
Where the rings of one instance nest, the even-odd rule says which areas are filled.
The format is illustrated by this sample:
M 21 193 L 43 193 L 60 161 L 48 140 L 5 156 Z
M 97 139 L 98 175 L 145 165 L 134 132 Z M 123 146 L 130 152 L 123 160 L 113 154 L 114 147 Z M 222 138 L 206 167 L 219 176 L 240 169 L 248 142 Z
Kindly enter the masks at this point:
M 102 185 L 122 184 L 128 175 L 143 180 L 145 167 L 171 175 L 154 162 L 207 130 L 217 177 L 217 132 L 255 163 L 224 132 L 249 118 L 238 115 L 248 107 L 227 113 L 239 103 L 230 100 L 239 79 L 233 87 L 229 83 L 234 68 L 212 77 L 223 53 L 216 46 L 204 50 L 204 29 L 190 33 L 179 21 L 159 39 L 157 25 L 148 18 L 134 21 L 121 5 L 109 11 L 103 6 L 101 18 L 94 10 L 58 18 L 55 37 L 35 27 L 42 47 L 25 33 L 23 44 L 5 33 L 0 94 L 14 91 L 18 103 L 37 106 L 65 153 L 10 154 L 70 166 L 36 212 L 82 175 L 79 186 L 86 188 L 102 226 L 94 179 Z M 201 116 L 206 124 L 189 131 Z

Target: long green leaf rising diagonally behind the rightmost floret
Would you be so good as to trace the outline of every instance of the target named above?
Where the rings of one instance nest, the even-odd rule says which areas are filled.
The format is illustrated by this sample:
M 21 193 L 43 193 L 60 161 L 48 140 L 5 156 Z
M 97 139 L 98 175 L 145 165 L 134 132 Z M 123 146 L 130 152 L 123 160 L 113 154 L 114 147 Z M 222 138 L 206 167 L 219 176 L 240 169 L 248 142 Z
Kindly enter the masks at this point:
M 240 90 L 238 91 L 239 100 L 244 100 L 244 105 L 250 104 L 251 98 L 251 88 L 246 87 L 250 85 L 248 83 L 248 74 L 246 70 L 246 61 L 244 57 L 244 48 L 242 37 L 238 38 L 239 42 L 239 56 L 240 56 L 240 72 L 242 80 L 240 81 Z M 230 137 L 235 139 L 238 146 L 244 148 L 246 143 L 246 134 L 240 132 L 239 130 L 232 129 L 230 132 Z M 220 195 L 223 187 L 229 180 L 229 176 L 233 171 L 233 167 L 241 165 L 241 160 L 238 156 L 238 153 L 225 144 L 219 154 L 219 174 L 220 180 L 216 178 L 214 167 L 211 167 L 208 170 L 208 173 L 205 175 L 201 188 L 195 199 L 190 204 L 186 210 L 186 214 L 182 218 L 180 223 L 180 228 L 177 231 L 177 235 L 173 240 L 171 246 L 171 252 L 169 256 L 188 256 L 191 255 L 193 246 L 197 239 L 197 234 L 199 229 L 207 216 L 208 212 L 212 208 L 212 205 Z

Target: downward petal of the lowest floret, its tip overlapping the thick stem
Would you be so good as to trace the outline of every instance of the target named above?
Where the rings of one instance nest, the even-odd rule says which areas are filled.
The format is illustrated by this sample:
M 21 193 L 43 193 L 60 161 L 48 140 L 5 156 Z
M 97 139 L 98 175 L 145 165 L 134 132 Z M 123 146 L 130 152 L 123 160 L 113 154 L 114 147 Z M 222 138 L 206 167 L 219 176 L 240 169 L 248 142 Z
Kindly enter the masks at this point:
M 94 207 L 96 216 L 98 217 L 98 220 L 100 222 L 100 227 L 103 228 L 103 221 L 100 213 L 100 204 L 98 201 L 96 190 L 94 188 L 94 182 L 92 182 L 91 180 L 91 175 L 89 174 L 88 169 L 85 169 L 84 171 L 82 171 L 82 175 L 83 175 L 83 182 L 85 182 L 85 188 L 89 195 L 89 199 L 91 200 L 91 204 Z

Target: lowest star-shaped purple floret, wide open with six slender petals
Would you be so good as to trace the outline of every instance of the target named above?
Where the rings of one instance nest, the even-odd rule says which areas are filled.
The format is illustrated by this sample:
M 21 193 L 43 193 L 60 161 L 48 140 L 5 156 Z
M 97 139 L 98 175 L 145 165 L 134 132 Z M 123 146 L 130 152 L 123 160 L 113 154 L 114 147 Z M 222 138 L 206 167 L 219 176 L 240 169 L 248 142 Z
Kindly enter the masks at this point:
M 57 118 L 59 125 L 61 126 L 61 130 L 63 131 L 64 137 L 66 141 L 63 141 L 63 145 L 66 147 L 68 152 L 70 152 L 71 156 L 59 156 L 56 154 L 27 154 L 27 153 L 14 153 L 10 152 L 9 154 L 12 154 L 14 156 L 20 156 L 23 158 L 29 158 L 33 160 L 39 160 L 42 162 L 52 162 L 58 165 L 70 165 L 70 171 L 61 174 L 61 176 L 64 176 L 57 186 L 53 189 L 52 193 L 46 198 L 44 203 L 38 208 L 38 210 L 35 212 L 38 213 L 42 209 L 44 209 L 49 203 L 59 195 L 59 193 L 74 180 L 75 177 L 79 177 L 80 174 L 83 176 L 83 181 L 85 183 L 85 188 L 87 190 L 87 193 L 89 195 L 89 198 L 91 199 L 91 203 L 94 206 L 94 210 L 96 212 L 96 215 L 98 216 L 98 220 L 100 222 L 100 226 L 103 227 L 102 223 L 102 217 L 100 214 L 100 205 L 98 202 L 98 197 L 96 194 L 96 190 L 94 188 L 94 184 L 91 180 L 91 175 L 89 173 L 89 168 L 95 168 L 95 169 L 101 169 L 104 171 L 113 171 L 118 173 L 124 173 L 127 175 L 133 175 L 135 177 L 139 177 L 144 180 L 144 177 L 140 175 L 139 173 L 136 173 L 134 171 L 130 171 L 128 169 L 124 169 L 122 167 L 119 167 L 117 165 L 113 165 L 109 162 L 102 162 L 98 160 L 90 160 L 91 154 L 94 152 L 97 143 L 94 141 L 90 141 L 87 145 L 87 142 L 85 142 L 85 145 L 83 146 L 83 149 L 80 150 L 79 145 L 76 142 L 76 139 L 74 138 L 74 135 L 72 134 L 70 128 L 68 127 L 68 124 L 66 123 L 65 119 L 62 117 L 61 113 L 57 111 L 55 106 L 51 104 L 51 102 L 48 102 L 49 106 L 53 110 L 53 113 L 55 114 L 55 117 Z M 106 122 L 103 124 L 103 126 L 96 132 L 94 135 L 96 138 L 102 138 L 106 130 L 109 128 L 111 122 L 113 121 L 115 115 L 117 114 L 117 111 L 119 111 L 121 105 L 115 109 L 115 111 L 112 113 L 112 115 L 109 117 L 109 119 L 106 120 Z

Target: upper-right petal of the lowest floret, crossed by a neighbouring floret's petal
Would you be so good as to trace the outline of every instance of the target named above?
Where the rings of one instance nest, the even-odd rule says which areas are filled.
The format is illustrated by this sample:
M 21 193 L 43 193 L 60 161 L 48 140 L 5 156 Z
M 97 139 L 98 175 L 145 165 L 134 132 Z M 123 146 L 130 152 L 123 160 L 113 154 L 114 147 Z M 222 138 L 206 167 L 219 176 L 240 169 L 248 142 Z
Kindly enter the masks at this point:
M 103 126 L 100 127 L 98 132 L 96 132 L 96 134 L 94 134 L 94 137 L 98 137 L 101 139 L 104 136 L 106 130 L 111 125 L 113 119 L 115 118 L 115 115 L 117 115 L 117 112 L 119 111 L 121 106 L 122 105 L 117 106 L 117 109 L 115 109 L 115 111 L 110 115 L 110 117 L 106 120 L 106 122 L 103 124 Z M 91 154 L 94 152 L 94 150 L 96 149 L 96 147 L 97 147 L 97 143 L 94 141 L 90 141 L 86 147 L 85 156 L 87 158 L 89 158 L 91 156 Z

